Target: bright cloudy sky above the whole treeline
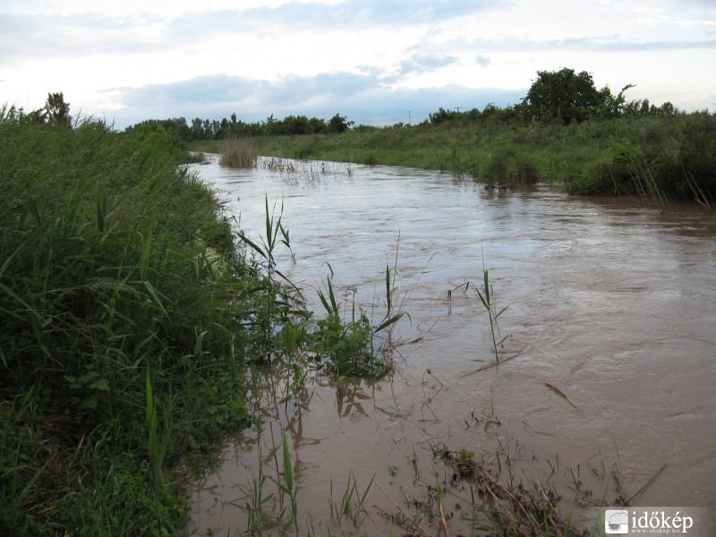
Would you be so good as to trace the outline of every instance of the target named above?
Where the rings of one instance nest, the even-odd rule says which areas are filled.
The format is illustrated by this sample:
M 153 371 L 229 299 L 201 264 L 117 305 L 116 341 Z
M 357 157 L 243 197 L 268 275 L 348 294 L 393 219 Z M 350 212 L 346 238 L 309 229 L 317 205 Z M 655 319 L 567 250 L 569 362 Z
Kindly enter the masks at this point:
M 146 119 L 419 123 L 538 71 L 716 110 L 716 0 L 0 0 L 0 106 Z

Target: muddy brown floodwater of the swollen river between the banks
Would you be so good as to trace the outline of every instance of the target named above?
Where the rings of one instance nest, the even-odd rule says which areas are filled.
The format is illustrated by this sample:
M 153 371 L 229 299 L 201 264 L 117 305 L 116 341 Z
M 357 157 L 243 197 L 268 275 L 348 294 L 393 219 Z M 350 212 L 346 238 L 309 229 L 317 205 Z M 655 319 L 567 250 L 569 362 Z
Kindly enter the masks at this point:
M 282 429 L 302 534 L 388 534 L 382 513 L 412 516 L 436 486 L 451 532 L 468 533 L 476 492 L 451 482 L 433 456 L 443 446 L 473 452 L 512 487 L 538 480 L 577 524 L 602 497 L 716 507 L 716 217 L 548 186 L 486 192 L 407 168 L 295 166 L 199 169 L 254 239 L 265 196 L 277 212 L 283 203 L 295 258 L 279 253 L 278 268 L 318 314 L 315 289 L 332 270 L 346 311 L 355 303 L 379 321 L 396 266 L 394 302 L 409 318 L 393 334 L 395 372 L 339 386 L 311 377 L 291 396 L 260 379 L 263 422 L 227 439 L 195 483 L 190 534 L 246 530 L 251 483 L 281 467 Z M 498 365 L 473 292 L 483 263 L 507 306 Z M 346 487 L 362 495 L 371 479 L 360 529 L 339 523 L 331 499 L 340 506 Z M 264 493 L 275 489 L 267 481 Z M 438 526 L 422 521 L 428 534 Z

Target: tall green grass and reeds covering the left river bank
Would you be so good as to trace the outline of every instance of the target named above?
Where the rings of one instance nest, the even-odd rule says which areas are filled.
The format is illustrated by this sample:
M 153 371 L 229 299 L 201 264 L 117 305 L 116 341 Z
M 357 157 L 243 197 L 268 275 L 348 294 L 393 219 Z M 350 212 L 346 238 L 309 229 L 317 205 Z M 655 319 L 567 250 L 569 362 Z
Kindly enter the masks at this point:
M 251 422 L 257 364 L 380 375 L 390 323 L 326 333 L 277 277 L 268 200 L 261 250 L 175 133 L 72 124 L 54 95 L 58 114 L 0 110 L 0 533 L 173 534 L 178 463 Z M 342 345 L 374 367 L 333 366 Z

